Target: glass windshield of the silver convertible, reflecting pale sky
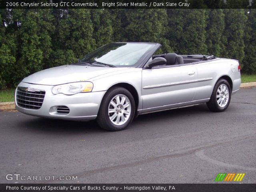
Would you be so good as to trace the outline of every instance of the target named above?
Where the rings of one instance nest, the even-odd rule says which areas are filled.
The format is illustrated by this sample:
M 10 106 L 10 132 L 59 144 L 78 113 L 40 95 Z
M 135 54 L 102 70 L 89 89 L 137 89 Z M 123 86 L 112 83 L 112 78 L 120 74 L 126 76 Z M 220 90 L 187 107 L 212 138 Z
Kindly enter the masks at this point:
M 84 56 L 80 62 L 98 62 L 118 67 L 136 66 L 137 62 L 152 49 L 149 43 L 110 43 Z

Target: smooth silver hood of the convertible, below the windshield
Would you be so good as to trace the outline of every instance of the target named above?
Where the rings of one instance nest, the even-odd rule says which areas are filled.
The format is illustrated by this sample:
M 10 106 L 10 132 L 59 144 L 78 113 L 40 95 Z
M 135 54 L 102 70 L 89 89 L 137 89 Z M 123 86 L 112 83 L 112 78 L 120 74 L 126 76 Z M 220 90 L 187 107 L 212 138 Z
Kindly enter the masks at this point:
M 114 73 L 127 69 L 128 68 L 63 65 L 36 72 L 24 78 L 22 82 L 41 85 L 59 85 L 71 82 L 87 81 L 103 74 Z

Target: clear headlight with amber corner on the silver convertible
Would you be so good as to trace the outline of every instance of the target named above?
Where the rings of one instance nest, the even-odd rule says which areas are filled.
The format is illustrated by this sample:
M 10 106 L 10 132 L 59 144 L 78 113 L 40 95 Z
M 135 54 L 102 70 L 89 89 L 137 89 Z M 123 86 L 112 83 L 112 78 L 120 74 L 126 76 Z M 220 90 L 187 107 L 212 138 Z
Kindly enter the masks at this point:
M 77 93 L 91 92 L 92 82 L 75 82 L 62 85 L 56 85 L 52 88 L 53 94 L 63 93 L 65 95 L 74 95 Z

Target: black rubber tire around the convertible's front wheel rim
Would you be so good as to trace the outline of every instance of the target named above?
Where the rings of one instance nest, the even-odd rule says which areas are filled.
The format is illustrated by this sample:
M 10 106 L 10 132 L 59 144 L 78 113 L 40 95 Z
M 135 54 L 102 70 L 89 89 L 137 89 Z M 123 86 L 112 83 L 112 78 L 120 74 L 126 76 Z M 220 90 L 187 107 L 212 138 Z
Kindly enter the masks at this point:
M 124 95 L 126 98 L 128 98 L 128 100 L 130 102 L 130 113 L 128 118 L 122 122 L 122 119 L 120 117 L 120 122 L 122 122 L 123 124 L 121 125 L 116 125 L 114 123 L 116 122 L 112 122 L 110 120 L 110 115 L 109 115 L 109 107 L 110 107 L 110 102 L 118 95 Z M 127 99 L 126 99 L 127 100 Z M 116 100 L 115 100 L 116 101 Z M 125 103 L 126 104 L 126 103 Z M 123 105 L 124 106 L 124 105 Z M 113 106 L 112 106 L 113 107 Z M 118 107 L 117 107 L 118 108 Z M 122 108 L 122 107 L 121 107 Z M 123 107 L 123 110 L 125 108 Z M 127 110 L 128 108 L 126 108 Z M 113 110 L 116 110 L 116 108 L 113 107 Z M 121 110 L 120 108 L 118 110 Z M 110 113 L 110 114 L 115 114 L 116 112 Z M 120 114 L 122 112 L 119 112 Z M 118 112 L 117 112 L 118 114 Z M 124 115 L 124 117 L 126 118 L 126 114 L 122 113 Z M 97 123 L 98 125 L 108 131 L 120 131 L 120 130 L 124 130 L 127 126 L 129 126 L 134 118 L 134 114 L 135 114 L 135 102 L 134 102 L 134 98 L 132 96 L 132 94 L 125 88 L 122 87 L 112 87 L 110 88 L 106 94 L 104 95 L 102 102 L 100 104 L 100 109 L 98 112 L 98 116 L 97 116 Z M 116 115 L 116 114 L 115 114 Z M 112 116 L 111 116 L 112 117 Z M 116 118 L 114 118 L 114 120 L 117 120 L 118 116 L 116 116 Z M 114 121 L 113 120 L 113 121 Z M 119 121 L 118 121 L 119 122 Z

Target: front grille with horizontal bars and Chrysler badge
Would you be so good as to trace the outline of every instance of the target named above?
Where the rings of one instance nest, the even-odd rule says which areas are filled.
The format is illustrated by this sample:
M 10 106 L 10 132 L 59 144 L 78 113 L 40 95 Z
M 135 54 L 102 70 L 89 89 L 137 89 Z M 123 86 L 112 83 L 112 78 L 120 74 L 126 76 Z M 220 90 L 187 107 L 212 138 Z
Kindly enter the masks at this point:
M 40 109 L 44 101 L 45 91 L 33 88 L 18 87 L 17 105 L 26 109 Z

